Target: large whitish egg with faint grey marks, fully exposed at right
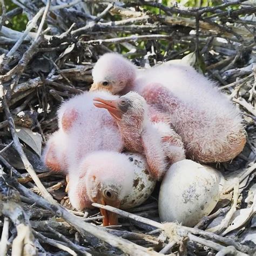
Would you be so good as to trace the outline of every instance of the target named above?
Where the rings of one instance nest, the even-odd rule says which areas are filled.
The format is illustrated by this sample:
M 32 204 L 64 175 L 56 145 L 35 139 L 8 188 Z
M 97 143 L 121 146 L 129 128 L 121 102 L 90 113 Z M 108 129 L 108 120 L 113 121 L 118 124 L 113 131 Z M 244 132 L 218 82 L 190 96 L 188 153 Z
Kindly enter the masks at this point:
M 161 221 L 192 227 L 208 215 L 219 200 L 221 174 L 192 160 L 173 164 L 161 183 L 158 210 Z

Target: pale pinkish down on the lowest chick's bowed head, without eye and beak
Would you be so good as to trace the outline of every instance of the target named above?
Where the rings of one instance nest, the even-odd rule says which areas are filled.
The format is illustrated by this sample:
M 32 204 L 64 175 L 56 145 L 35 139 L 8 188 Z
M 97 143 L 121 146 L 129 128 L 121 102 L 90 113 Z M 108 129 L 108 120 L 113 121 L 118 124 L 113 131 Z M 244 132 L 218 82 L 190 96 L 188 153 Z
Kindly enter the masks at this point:
M 70 171 L 71 204 L 82 210 L 89 207 L 98 190 L 111 188 L 122 200 L 132 191 L 134 168 L 127 156 L 118 152 L 98 151 L 90 153 Z

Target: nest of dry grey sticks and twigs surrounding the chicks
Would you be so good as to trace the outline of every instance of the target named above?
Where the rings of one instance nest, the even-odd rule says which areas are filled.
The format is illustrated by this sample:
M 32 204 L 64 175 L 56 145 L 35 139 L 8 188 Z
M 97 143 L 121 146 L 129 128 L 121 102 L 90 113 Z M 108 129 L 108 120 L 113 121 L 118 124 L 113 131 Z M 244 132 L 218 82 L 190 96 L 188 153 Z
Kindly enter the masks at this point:
M 193 9 L 156 1 L 13 2 L 16 8 L 9 10 L 0 1 L 1 253 L 253 254 L 254 1 L 215 1 L 216 6 Z M 30 20 L 23 32 L 13 28 L 21 14 Z M 193 228 L 160 223 L 159 186 L 145 204 L 129 211 L 105 206 L 119 214 L 120 225 L 103 227 L 98 208 L 72 209 L 65 178 L 40 161 L 57 129 L 58 106 L 89 89 L 94 63 L 111 51 L 141 68 L 173 59 L 190 62 L 217 80 L 242 111 L 246 146 L 231 163 L 215 166 L 229 185 L 214 211 Z M 215 226 L 211 232 L 210 226 Z

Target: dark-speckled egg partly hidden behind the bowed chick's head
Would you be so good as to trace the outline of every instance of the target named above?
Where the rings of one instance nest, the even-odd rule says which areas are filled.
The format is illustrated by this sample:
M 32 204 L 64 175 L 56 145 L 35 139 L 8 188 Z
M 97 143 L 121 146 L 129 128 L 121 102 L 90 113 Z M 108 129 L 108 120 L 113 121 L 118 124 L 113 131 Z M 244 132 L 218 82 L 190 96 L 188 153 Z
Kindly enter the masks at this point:
M 120 208 L 127 209 L 136 207 L 144 203 L 156 186 L 156 180 L 154 180 L 149 174 L 149 167 L 145 157 L 137 153 L 125 153 L 127 158 L 134 166 L 134 180 L 133 190 L 126 196 L 122 202 Z

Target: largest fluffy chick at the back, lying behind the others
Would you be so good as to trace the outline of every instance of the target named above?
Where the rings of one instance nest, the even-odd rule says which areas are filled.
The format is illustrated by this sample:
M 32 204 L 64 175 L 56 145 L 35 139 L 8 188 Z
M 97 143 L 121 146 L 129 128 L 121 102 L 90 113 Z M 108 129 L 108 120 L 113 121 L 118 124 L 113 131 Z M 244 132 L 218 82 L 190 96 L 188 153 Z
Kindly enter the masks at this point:
M 147 104 L 168 113 L 188 157 L 203 163 L 232 160 L 244 148 L 246 135 L 239 110 L 215 83 L 184 64 L 161 65 L 138 72 L 117 53 L 99 58 L 91 90 L 142 95 Z

